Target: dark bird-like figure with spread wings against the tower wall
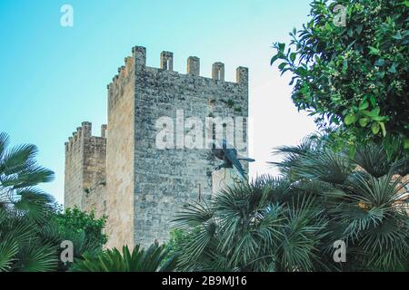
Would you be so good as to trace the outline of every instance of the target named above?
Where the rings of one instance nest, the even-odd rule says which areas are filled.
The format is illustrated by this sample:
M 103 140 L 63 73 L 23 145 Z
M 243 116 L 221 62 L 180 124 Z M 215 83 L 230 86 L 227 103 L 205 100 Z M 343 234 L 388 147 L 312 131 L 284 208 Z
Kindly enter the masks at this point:
M 222 140 L 222 148 L 216 148 L 215 144 L 213 144 L 212 147 L 212 153 L 215 157 L 217 157 L 219 160 L 223 160 L 223 164 L 217 166 L 215 169 L 231 169 L 234 168 L 238 171 L 238 173 L 242 176 L 243 179 L 244 177 L 244 169 L 242 164 L 240 163 L 240 160 L 244 160 L 247 162 L 254 162 L 254 159 L 251 158 L 246 158 L 246 157 L 238 157 L 237 150 L 234 148 L 227 148 L 227 141 Z

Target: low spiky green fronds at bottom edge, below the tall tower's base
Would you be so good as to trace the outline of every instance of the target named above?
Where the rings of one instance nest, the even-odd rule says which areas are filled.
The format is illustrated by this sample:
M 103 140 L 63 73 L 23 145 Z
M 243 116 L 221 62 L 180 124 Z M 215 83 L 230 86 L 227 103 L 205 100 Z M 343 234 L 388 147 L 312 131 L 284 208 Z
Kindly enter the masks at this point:
M 165 246 L 153 244 L 144 249 L 137 245 L 132 253 L 128 247 L 122 254 L 116 249 L 108 249 L 96 256 L 85 254 L 84 260 L 75 262 L 71 271 L 75 272 L 169 272 L 175 269 L 175 259 L 167 258 Z

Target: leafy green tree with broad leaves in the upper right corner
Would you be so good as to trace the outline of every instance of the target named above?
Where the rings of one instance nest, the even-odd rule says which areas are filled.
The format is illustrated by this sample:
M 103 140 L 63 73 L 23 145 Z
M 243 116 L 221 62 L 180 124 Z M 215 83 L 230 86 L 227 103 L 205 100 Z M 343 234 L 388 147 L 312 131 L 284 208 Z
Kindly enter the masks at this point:
M 335 25 L 334 5 L 346 7 Z M 311 20 L 274 43 L 272 62 L 293 73 L 293 101 L 334 136 L 383 143 L 389 159 L 409 150 L 409 22 L 403 0 L 314 0 Z

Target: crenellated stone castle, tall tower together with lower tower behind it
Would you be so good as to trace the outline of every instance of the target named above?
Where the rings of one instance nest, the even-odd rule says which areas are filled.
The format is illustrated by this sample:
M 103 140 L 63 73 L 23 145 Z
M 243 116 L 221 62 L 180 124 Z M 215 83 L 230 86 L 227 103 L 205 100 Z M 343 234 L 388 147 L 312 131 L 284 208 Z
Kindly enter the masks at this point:
M 148 67 L 145 47 L 134 47 L 107 86 L 107 136 L 104 131 L 93 137 L 85 122 L 83 149 L 74 141 L 81 132 L 66 145 L 65 207 L 95 208 L 108 216 L 106 247 L 164 242 L 185 202 L 211 196 L 212 171 L 219 161 L 209 148 L 184 147 L 185 137 L 177 133 L 171 136 L 175 148 L 158 148 L 160 118 L 174 120 L 175 128 L 189 133 L 184 124 L 189 117 L 205 123 L 230 117 L 244 117 L 238 118 L 243 122 L 248 116 L 246 68 L 237 68 L 236 82 L 225 82 L 224 63 L 214 63 L 212 78 L 206 78 L 195 56 L 187 59 L 186 74 L 175 72 L 173 62 L 173 53 L 163 52 L 160 68 Z M 214 126 L 204 127 L 204 140 L 214 136 Z

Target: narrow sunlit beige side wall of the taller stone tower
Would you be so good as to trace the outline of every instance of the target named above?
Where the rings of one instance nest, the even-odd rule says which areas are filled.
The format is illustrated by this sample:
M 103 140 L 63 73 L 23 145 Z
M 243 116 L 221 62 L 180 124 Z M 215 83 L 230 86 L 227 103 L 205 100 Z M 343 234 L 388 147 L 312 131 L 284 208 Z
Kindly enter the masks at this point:
M 106 247 L 134 247 L 135 59 L 108 85 Z

